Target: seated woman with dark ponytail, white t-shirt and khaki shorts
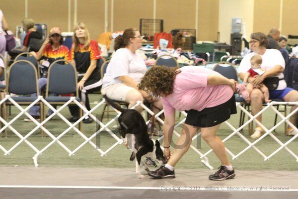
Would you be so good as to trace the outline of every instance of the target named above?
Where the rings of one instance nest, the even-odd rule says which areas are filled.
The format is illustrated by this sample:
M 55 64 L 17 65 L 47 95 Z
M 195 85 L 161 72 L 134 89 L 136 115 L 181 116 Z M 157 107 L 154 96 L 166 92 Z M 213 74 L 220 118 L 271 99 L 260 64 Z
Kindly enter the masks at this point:
M 129 108 L 138 100 L 152 102 L 154 106 L 162 108 L 159 98 L 152 98 L 146 92 L 138 89 L 138 83 L 146 73 L 146 64 L 136 50 L 142 47 L 142 36 L 136 29 L 124 30 L 123 35 L 115 39 L 115 50 L 102 80 L 102 94 L 112 100 L 126 101 Z M 141 112 L 142 107 L 136 109 Z

